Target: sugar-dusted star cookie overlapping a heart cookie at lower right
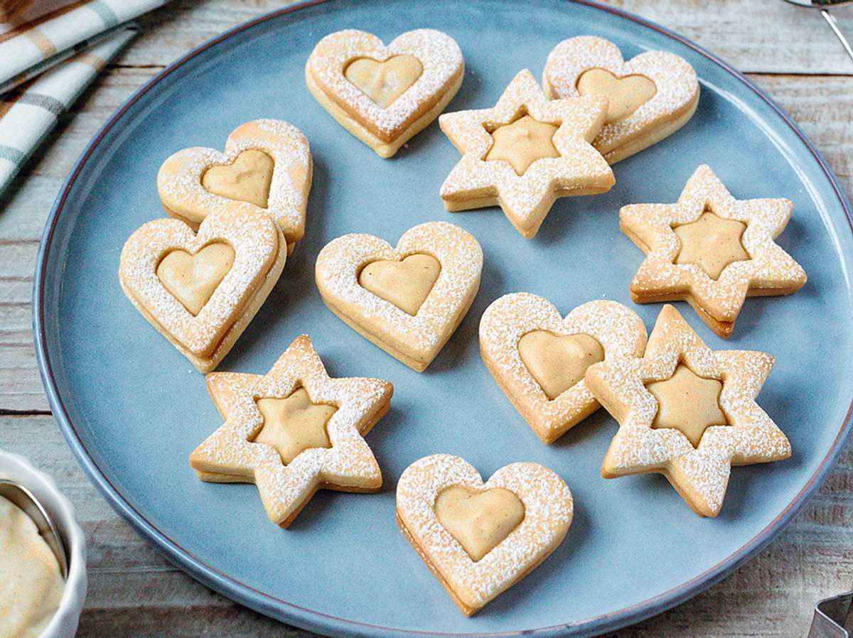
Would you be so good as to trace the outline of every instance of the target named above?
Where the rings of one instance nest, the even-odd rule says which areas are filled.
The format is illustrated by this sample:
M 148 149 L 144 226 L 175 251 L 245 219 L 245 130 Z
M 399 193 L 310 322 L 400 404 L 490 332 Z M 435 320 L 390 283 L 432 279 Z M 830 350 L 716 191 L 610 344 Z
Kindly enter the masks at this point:
M 711 351 L 664 305 L 643 357 L 587 369 L 587 387 L 619 423 L 601 475 L 661 473 L 695 513 L 717 516 L 733 465 L 791 455 L 785 434 L 755 402 L 773 363 L 764 352 Z

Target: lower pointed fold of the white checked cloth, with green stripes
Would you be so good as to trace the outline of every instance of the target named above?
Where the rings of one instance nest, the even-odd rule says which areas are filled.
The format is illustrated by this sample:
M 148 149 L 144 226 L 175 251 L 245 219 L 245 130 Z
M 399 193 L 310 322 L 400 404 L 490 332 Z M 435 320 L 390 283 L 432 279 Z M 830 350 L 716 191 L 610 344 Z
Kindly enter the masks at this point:
M 56 119 L 134 33 L 136 26 L 123 26 L 102 43 L 61 62 L 31 84 L 0 96 L 0 192 L 54 127 Z

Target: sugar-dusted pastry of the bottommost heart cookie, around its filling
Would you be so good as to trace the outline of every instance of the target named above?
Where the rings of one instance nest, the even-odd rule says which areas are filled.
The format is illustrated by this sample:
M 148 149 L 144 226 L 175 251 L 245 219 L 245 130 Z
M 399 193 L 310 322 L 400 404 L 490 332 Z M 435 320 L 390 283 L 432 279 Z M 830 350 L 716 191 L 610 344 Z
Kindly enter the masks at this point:
M 525 518 L 476 563 L 438 522 L 435 499 L 450 485 L 502 487 L 525 506 Z M 406 468 L 397 484 L 397 513 L 432 565 L 468 606 L 479 608 L 508 589 L 560 544 L 572 524 L 572 493 L 563 479 L 536 463 L 502 467 L 483 483 L 458 456 L 432 455 Z

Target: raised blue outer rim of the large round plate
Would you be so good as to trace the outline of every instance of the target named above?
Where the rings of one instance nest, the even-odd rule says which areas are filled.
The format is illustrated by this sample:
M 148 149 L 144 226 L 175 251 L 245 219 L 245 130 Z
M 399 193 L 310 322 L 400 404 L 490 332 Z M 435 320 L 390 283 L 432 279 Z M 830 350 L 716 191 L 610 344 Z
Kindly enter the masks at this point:
M 789 116 L 775 101 L 768 96 L 763 90 L 759 89 L 749 78 L 743 73 L 732 67 L 728 62 L 722 61 L 717 55 L 711 53 L 704 47 L 695 44 L 692 40 L 683 37 L 682 35 L 671 31 L 670 29 L 660 26 L 659 24 L 642 18 L 639 15 L 632 14 L 623 9 L 596 2 L 596 0 L 564 0 L 574 4 L 589 7 L 599 11 L 604 11 L 609 14 L 617 15 L 625 20 L 630 20 L 635 24 L 654 32 L 659 32 L 667 38 L 671 38 L 692 49 L 695 53 L 705 57 L 707 61 L 721 67 L 723 71 L 740 80 L 747 89 L 751 90 L 759 99 L 766 103 L 780 117 L 783 124 L 787 125 L 799 140 L 804 144 L 804 147 L 809 151 L 815 159 L 824 176 L 827 177 L 829 183 L 833 187 L 833 191 L 838 199 L 844 215 L 847 219 L 851 233 L 853 233 L 853 210 L 851 210 L 850 202 L 844 194 L 844 189 L 838 183 L 838 178 L 833 173 L 832 169 L 827 165 L 821 153 L 815 148 L 815 145 L 809 140 L 808 136 L 800 129 L 799 125 Z M 214 589 L 219 594 L 223 594 L 230 600 L 235 600 L 241 605 L 247 606 L 257 612 L 260 612 L 271 618 L 280 620 L 281 622 L 291 623 L 295 626 L 308 630 L 316 630 L 323 633 L 334 631 L 344 632 L 345 635 L 364 635 L 364 636 L 442 636 L 444 638 L 475 638 L 477 636 L 487 635 L 502 635 L 502 636 L 557 636 L 557 635 L 573 635 L 577 638 L 581 636 L 596 635 L 602 631 L 619 629 L 632 623 L 640 622 L 645 618 L 665 612 L 668 609 L 681 604 L 682 602 L 701 593 L 705 589 L 710 588 L 715 583 L 718 583 L 722 578 L 728 576 L 729 573 L 739 568 L 747 560 L 749 560 L 759 550 L 764 548 L 771 540 L 777 536 L 782 529 L 791 522 L 793 517 L 809 502 L 811 496 L 820 488 L 823 480 L 826 479 L 827 473 L 833 467 L 838 455 L 844 448 L 844 442 L 850 435 L 853 429 L 853 397 L 850 400 L 850 408 L 844 416 L 844 421 L 838 429 L 838 434 L 833 440 L 833 444 L 827 450 L 827 454 L 821 459 L 821 462 L 815 469 L 815 472 L 806 481 L 803 488 L 798 491 L 782 511 L 769 522 L 761 531 L 752 536 L 749 541 L 740 546 L 732 554 L 729 554 L 725 559 L 712 565 L 705 571 L 702 571 L 697 576 L 670 588 L 661 594 L 641 600 L 630 606 L 625 606 L 621 609 L 607 612 L 599 616 L 584 618 L 583 620 L 550 625 L 547 627 L 539 627 L 534 629 L 521 629 L 518 631 L 507 631 L 499 633 L 485 632 L 433 632 L 421 631 L 417 629 L 399 629 L 387 627 L 383 625 L 375 625 L 372 623 L 364 623 L 361 621 L 351 620 L 348 618 L 339 618 L 323 612 L 309 609 L 305 606 L 295 605 L 287 600 L 282 600 L 276 596 L 267 594 L 259 589 L 253 588 L 247 583 L 242 583 L 235 577 L 231 577 L 222 571 L 218 571 L 212 565 L 208 565 L 203 560 L 194 556 L 188 549 L 183 548 L 180 544 L 171 539 L 164 531 L 149 522 L 125 496 L 107 479 L 107 476 L 98 467 L 96 461 L 86 450 L 82 439 L 79 437 L 77 428 L 68 415 L 65 403 L 62 400 L 61 394 L 58 391 L 54 376 L 54 368 L 51 364 L 49 355 L 49 346 L 47 345 L 46 328 L 45 328 L 45 304 L 44 304 L 44 282 L 49 270 L 49 251 L 51 242 L 54 238 L 55 229 L 59 222 L 59 217 L 63 211 L 63 206 L 66 203 L 67 197 L 73 188 L 75 181 L 83 170 L 84 165 L 90 156 L 95 152 L 97 146 L 102 142 L 107 133 L 113 129 L 114 125 L 119 123 L 125 113 L 136 103 L 142 96 L 145 96 L 148 91 L 153 90 L 157 84 L 167 78 L 171 73 L 177 71 L 180 67 L 206 52 L 207 49 L 223 43 L 229 38 L 247 31 L 258 24 L 269 20 L 276 20 L 283 15 L 293 13 L 299 9 L 306 9 L 319 4 L 331 3 L 331 0 L 306 0 L 305 2 L 295 3 L 283 9 L 276 9 L 269 13 L 261 14 L 258 17 L 243 22 L 240 25 L 234 26 L 227 31 L 219 34 L 214 38 L 206 40 L 206 42 L 190 49 L 184 55 L 177 58 L 168 66 L 160 70 L 159 73 L 150 78 L 145 84 L 142 84 L 123 102 L 116 111 L 104 122 L 98 129 L 95 136 L 86 145 L 83 152 L 75 161 L 72 170 L 62 184 L 59 193 L 56 196 L 53 206 L 49 212 L 49 216 L 44 226 L 44 234 L 38 246 L 38 256 L 36 258 L 36 268 L 33 276 L 32 285 L 32 331 L 34 335 L 34 345 L 36 350 L 36 360 L 38 363 L 39 373 L 44 385 L 44 391 L 48 397 L 49 407 L 52 415 L 59 425 L 63 438 L 78 463 L 84 469 L 84 473 L 90 481 L 95 484 L 96 488 L 104 496 L 105 500 L 119 515 L 127 521 L 134 530 L 140 534 L 146 541 L 158 549 L 161 554 L 173 564 L 177 565 L 182 571 L 194 577 L 200 583 Z M 345 5 L 346 0 L 339 0 L 337 4 Z M 369 632 L 369 633 L 368 633 Z

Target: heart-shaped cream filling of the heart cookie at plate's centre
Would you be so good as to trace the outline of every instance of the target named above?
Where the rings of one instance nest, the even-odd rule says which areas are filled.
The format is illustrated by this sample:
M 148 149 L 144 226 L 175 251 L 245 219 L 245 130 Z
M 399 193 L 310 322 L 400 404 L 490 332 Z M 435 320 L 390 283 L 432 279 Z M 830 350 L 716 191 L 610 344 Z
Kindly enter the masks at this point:
M 401 261 L 371 262 L 359 273 L 358 285 L 415 316 L 438 281 L 440 272 L 438 259 L 416 253 Z

